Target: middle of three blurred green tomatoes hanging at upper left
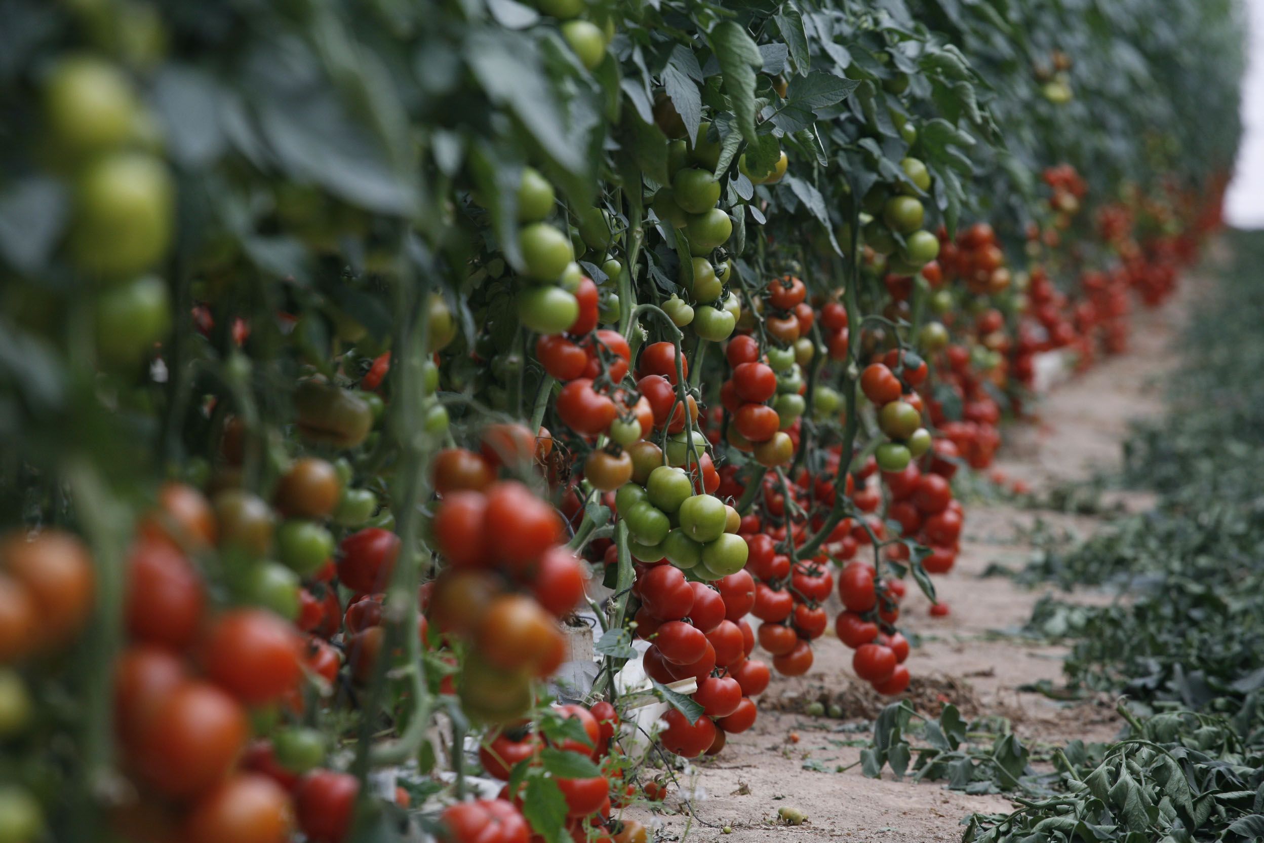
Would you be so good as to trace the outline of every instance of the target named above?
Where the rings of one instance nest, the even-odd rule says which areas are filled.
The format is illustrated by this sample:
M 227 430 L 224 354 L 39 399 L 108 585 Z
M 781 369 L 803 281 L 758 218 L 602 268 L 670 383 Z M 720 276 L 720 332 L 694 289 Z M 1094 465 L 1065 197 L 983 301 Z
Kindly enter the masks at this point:
M 139 153 L 107 155 L 87 167 L 77 187 L 71 248 L 81 268 L 129 278 L 167 253 L 176 191 L 163 161 Z

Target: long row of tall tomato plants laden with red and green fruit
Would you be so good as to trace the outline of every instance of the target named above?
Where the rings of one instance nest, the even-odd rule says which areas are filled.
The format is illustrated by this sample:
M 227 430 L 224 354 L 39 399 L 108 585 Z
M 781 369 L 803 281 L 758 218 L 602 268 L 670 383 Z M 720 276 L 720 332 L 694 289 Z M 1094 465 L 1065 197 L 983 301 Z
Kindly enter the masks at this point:
M 1231 15 L 1129 5 L 1202 88 L 1039 3 L 15 4 L 0 843 L 636 842 L 628 661 L 680 758 L 830 627 L 904 693 L 954 474 L 1217 222 Z

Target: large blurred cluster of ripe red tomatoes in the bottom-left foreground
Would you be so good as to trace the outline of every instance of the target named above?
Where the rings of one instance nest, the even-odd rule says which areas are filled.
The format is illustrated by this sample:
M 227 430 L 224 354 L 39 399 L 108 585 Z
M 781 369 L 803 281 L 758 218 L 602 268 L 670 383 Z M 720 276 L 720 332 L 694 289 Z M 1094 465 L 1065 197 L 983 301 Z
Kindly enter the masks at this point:
M 291 509 L 312 503 L 293 492 L 279 500 Z M 115 665 L 115 729 L 125 770 L 143 794 L 161 799 L 142 796 L 121 806 L 116 822 L 124 833 L 145 829 L 144 839 L 286 839 L 295 827 L 297 773 L 324 755 L 320 741 L 303 731 L 278 731 L 278 742 L 291 747 L 291 787 L 260 773 L 246 753 L 250 709 L 302 710 L 303 640 L 267 609 L 211 609 L 190 554 L 244 538 L 244 522 L 234 519 L 239 513 L 226 503 L 220 508 L 216 513 L 191 487 L 164 487 L 129 556 L 128 646 Z M 308 832 L 311 815 L 301 806 L 297 815 Z

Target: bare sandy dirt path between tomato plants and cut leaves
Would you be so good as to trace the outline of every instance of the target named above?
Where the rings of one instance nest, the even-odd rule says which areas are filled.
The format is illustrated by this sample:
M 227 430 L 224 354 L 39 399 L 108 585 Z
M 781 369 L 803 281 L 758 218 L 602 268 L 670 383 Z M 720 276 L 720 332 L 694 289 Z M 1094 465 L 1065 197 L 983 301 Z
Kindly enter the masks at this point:
M 1116 465 L 1129 421 L 1162 409 L 1162 380 L 1176 364 L 1173 340 L 1179 318 L 1197 296 L 1197 284 L 1186 283 L 1182 289 L 1164 308 L 1136 316 L 1127 354 L 1059 384 L 1042 401 L 1034 422 L 1010 426 L 997 468 L 1009 478 L 1025 480 L 1039 495 Z M 1116 498 L 1129 509 L 1146 503 L 1141 495 L 1116 493 Z M 1038 519 L 1073 536 L 1086 536 L 1106 522 L 1103 517 L 1010 504 L 971 504 L 957 566 L 937 578 L 940 599 L 952 614 L 929 617 L 929 602 L 915 586 L 904 603 L 901 626 L 921 638 L 908 661 L 914 675 L 909 693 L 919 710 L 937 713 L 938 704 L 952 701 L 967 719 L 1006 718 L 1029 747 L 1072 738 L 1109 739 L 1119 728 L 1111 700 L 1062 703 L 1020 690 L 1039 680 L 1062 684 L 1063 648 L 1010 634 L 1028 621 L 1045 589 L 981 576 L 992 562 L 1021 566 L 1033 550 L 1028 532 Z M 1074 595 L 1085 602 L 1111 598 L 1091 591 Z M 857 761 L 860 746 L 847 743 L 868 742 L 866 720 L 886 701 L 856 680 L 851 655 L 827 637 L 815 647 L 817 661 L 806 676 L 774 679 L 758 699 L 755 727 L 733 736 L 719 757 L 702 761 L 681 779 L 685 792 L 693 789 L 694 816 L 671 798 L 665 809 L 678 813 L 641 819 L 652 824 L 659 839 L 794 835 L 923 843 L 961 839 L 961 820 L 972 811 L 1012 810 L 1004 796 L 968 796 L 940 782 L 896 781 L 890 771 L 873 780 L 861 775 L 858 766 L 841 773 L 805 768 L 808 760 L 827 770 Z M 811 700 L 842 704 L 844 719 L 803 714 Z M 777 823 L 781 806 L 805 811 L 808 823 Z M 729 834 L 723 833 L 724 827 Z

